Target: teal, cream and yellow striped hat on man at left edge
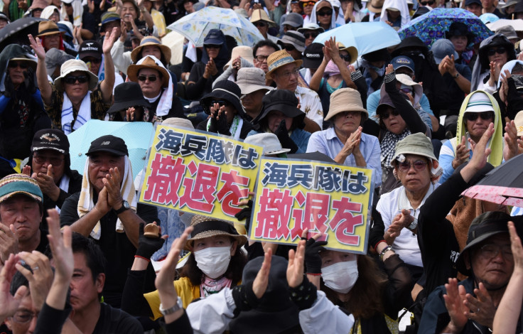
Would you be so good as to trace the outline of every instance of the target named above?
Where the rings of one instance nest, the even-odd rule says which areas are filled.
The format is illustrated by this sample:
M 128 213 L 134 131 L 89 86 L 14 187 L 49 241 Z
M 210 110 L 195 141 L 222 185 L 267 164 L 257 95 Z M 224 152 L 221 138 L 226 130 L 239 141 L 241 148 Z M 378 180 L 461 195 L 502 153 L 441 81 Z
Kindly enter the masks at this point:
M 42 203 L 42 190 L 31 176 L 11 174 L 0 180 L 0 203 L 18 194 L 26 195 L 38 203 Z

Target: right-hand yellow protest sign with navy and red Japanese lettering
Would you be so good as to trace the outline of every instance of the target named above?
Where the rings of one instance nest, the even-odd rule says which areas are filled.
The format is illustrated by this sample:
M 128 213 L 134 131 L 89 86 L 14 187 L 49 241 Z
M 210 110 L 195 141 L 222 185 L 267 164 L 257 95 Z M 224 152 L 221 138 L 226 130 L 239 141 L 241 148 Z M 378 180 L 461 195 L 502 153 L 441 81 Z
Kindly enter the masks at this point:
M 325 248 L 365 254 L 373 191 L 370 169 L 262 158 L 249 238 L 297 244 L 308 228 Z

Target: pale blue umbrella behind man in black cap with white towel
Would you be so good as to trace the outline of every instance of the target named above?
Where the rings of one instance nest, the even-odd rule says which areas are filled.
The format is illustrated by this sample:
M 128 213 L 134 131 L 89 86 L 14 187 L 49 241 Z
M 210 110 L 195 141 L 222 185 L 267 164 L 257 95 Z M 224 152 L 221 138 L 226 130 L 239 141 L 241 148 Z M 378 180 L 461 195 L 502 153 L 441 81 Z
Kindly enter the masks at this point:
M 68 135 L 71 169 L 83 174 L 85 159 L 87 159 L 85 153 L 89 150 L 91 141 L 106 134 L 124 139 L 133 168 L 133 178 L 136 178 L 136 175 L 144 169 L 147 149 L 153 135 L 153 124 L 149 122 L 107 122 L 91 119 L 80 129 Z

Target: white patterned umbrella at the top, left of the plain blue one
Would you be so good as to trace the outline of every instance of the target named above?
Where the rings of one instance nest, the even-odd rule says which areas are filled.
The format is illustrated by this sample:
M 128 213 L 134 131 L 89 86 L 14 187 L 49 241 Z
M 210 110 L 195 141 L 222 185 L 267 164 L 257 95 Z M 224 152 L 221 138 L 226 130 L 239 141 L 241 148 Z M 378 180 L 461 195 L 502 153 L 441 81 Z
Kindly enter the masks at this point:
M 220 29 L 225 35 L 234 37 L 238 45 L 253 46 L 264 39 L 258 28 L 247 18 L 236 14 L 232 9 L 214 6 L 183 16 L 167 28 L 178 31 L 196 46 L 203 46 L 203 38 L 211 29 Z

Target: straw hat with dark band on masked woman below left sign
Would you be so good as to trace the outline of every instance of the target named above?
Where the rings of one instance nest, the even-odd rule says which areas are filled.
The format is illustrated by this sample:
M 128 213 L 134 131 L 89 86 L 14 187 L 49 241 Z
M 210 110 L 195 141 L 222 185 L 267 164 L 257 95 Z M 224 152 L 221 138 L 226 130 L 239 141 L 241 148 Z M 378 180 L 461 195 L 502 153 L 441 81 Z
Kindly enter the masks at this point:
M 239 235 L 234 228 L 232 222 L 219 220 L 214 217 L 206 217 L 203 215 L 194 215 L 190 220 L 193 232 L 190 233 L 190 239 L 185 243 L 185 249 L 192 249 L 195 240 L 204 239 L 208 237 L 215 237 L 217 235 L 225 235 L 232 237 L 238 242 L 238 247 L 242 247 L 247 243 L 247 237 Z

